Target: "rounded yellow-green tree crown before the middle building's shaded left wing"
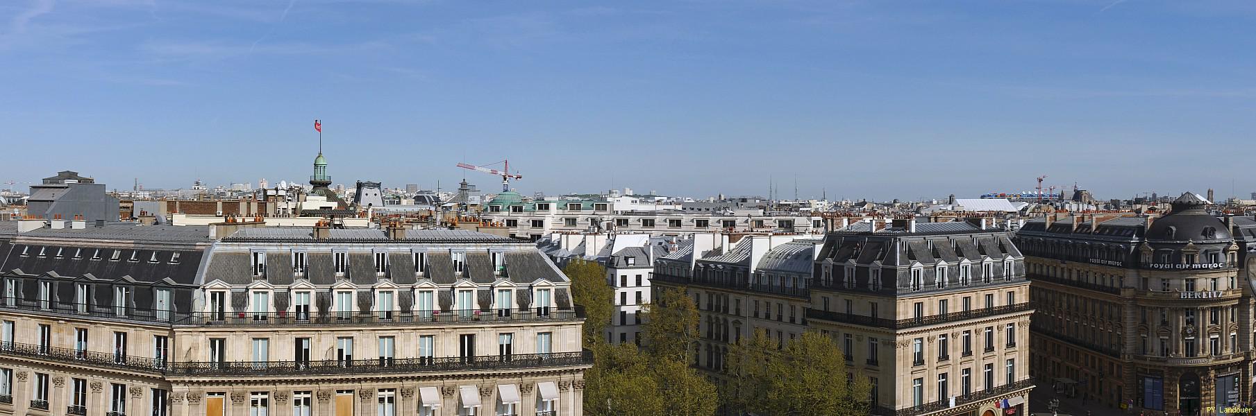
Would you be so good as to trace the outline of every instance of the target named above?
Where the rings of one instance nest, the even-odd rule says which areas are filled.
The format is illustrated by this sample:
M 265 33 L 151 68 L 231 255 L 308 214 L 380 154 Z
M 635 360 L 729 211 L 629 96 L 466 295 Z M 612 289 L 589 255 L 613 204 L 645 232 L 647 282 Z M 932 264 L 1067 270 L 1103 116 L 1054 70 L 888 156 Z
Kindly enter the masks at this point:
M 646 346 L 656 360 L 688 362 L 690 348 L 697 342 L 698 307 L 685 293 L 685 287 L 663 289 L 642 306 Z

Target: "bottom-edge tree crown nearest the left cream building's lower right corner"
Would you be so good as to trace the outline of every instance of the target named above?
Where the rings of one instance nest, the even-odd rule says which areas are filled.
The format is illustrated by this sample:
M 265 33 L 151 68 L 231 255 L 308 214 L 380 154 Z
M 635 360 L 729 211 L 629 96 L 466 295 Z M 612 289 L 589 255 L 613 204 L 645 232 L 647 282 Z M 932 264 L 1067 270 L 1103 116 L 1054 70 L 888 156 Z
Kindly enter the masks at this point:
M 584 372 L 584 413 L 589 416 L 656 416 L 663 413 L 659 383 L 649 358 L 636 345 L 592 346 L 594 365 Z

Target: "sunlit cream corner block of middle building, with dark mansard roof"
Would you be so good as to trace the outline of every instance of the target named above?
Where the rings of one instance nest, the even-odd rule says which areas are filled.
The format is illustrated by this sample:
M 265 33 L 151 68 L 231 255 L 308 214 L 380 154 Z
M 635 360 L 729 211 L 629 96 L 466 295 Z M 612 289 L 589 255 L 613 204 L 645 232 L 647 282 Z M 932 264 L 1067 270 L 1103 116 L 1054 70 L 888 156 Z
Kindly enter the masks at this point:
M 869 377 L 873 415 L 1026 415 L 1029 282 L 988 218 L 829 233 L 813 262 L 808 325 Z

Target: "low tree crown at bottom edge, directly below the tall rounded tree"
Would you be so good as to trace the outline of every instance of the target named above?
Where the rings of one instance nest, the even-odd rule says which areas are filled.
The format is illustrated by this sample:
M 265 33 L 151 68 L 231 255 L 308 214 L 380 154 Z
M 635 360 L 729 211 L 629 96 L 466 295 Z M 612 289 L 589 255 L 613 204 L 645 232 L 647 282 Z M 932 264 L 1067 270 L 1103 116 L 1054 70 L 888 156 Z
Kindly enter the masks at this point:
M 654 380 L 659 386 L 663 412 L 667 416 L 711 416 L 720 407 L 713 383 L 685 361 L 654 361 Z

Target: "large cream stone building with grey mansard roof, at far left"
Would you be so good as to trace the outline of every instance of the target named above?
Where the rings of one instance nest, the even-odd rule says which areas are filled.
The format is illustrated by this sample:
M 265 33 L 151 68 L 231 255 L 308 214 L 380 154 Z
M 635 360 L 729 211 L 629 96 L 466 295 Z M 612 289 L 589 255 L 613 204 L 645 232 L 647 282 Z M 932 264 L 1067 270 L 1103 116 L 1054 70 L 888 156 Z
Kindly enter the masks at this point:
M 0 415 L 582 415 L 583 317 L 463 231 L 0 222 Z

